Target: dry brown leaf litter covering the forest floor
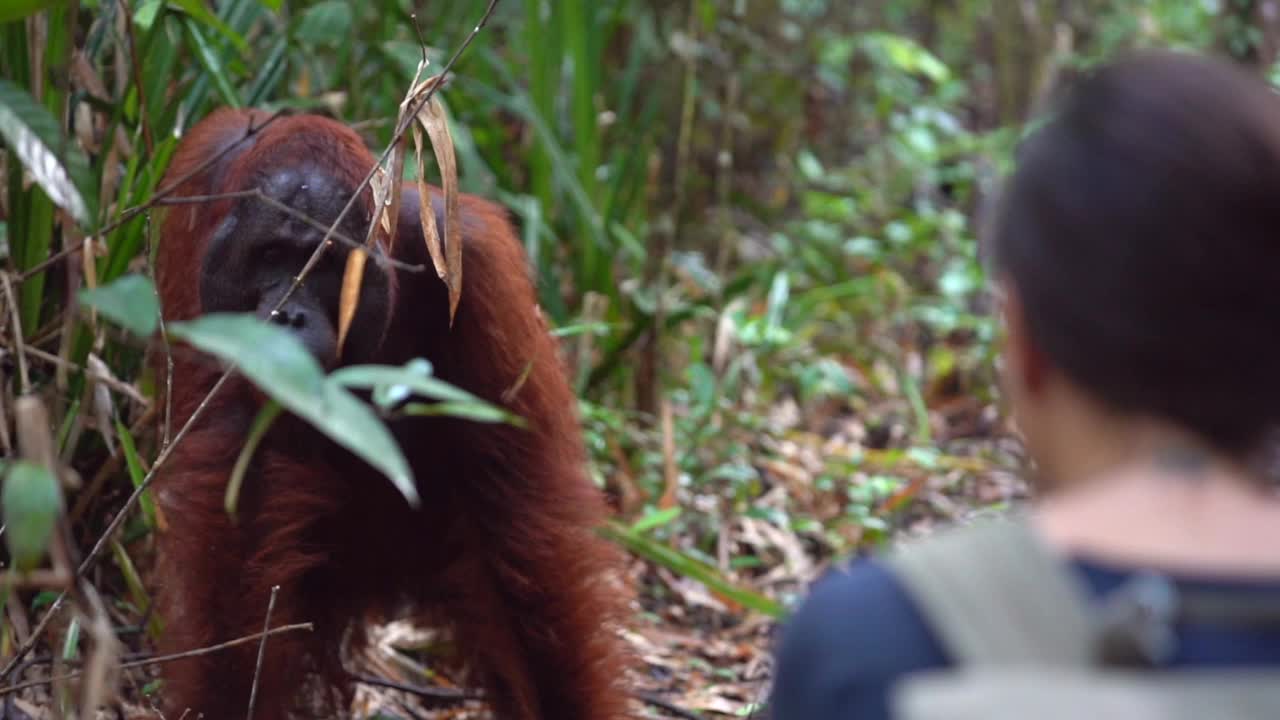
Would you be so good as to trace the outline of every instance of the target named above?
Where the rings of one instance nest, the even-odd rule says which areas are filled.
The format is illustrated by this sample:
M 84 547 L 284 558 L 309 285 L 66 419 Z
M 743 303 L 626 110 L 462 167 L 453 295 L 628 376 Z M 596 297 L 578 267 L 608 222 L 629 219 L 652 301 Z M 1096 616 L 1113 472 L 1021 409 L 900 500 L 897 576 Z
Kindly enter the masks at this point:
M 940 524 L 998 510 L 1027 496 L 1018 471 L 1020 447 L 1005 432 L 995 407 L 972 400 L 931 404 L 932 445 L 923 452 L 913 450 L 901 433 L 890 432 L 878 442 L 868 439 L 876 434 L 868 433 L 868 423 L 879 425 L 874 415 L 873 410 L 860 418 L 795 418 L 759 438 L 760 455 L 744 459 L 769 480 L 754 505 L 818 521 L 799 524 L 805 529 L 796 530 L 791 529 L 795 524 L 753 514 L 733 516 L 719 533 L 721 570 L 728 579 L 792 607 L 813 580 L 850 555 L 925 534 Z M 858 469 L 835 483 L 823 482 L 831 478 L 832 457 L 858 457 Z M 892 479 L 887 486 L 891 491 L 882 491 L 868 505 L 865 518 L 840 521 L 847 515 L 845 500 L 851 489 L 884 478 Z M 691 507 L 698 498 L 681 497 L 680 502 Z M 680 547 L 692 541 L 675 536 L 666 542 Z M 733 569 L 726 560 L 731 553 L 762 561 L 750 569 Z M 637 592 L 632 623 L 620 632 L 639 661 L 628 683 L 637 716 L 753 716 L 769 692 L 780 621 L 635 556 L 627 573 Z M 137 641 L 134 637 L 129 644 Z M 348 667 L 372 680 L 357 687 L 352 717 L 489 717 L 485 705 L 454 680 L 465 678 L 462 669 L 439 659 L 442 646 L 448 646 L 445 637 L 392 623 L 374 628 L 371 641 L 358 657 L 348 659 Z M 145 653 L 147 648 L 131 650 Z M 49 653 L 42 648 L 40 655 Z M 155 676 L 154 666 L 123 673 L 119 707 L 125 717 L 160 716 L 148 698 Z M 6 696 L 0 702 L 0 720 L 55 717 L 50 697 L 47 687 Z M 104 712 L 100 717 L 119 715 Z

